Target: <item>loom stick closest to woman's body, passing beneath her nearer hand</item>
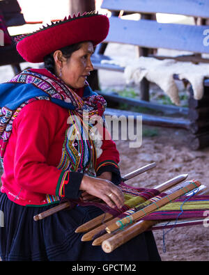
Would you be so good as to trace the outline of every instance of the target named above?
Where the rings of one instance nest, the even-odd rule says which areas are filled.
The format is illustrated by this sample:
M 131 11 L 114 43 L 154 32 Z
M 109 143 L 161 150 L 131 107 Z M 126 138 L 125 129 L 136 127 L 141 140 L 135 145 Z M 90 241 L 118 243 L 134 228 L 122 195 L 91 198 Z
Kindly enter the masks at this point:
M 127 175 L 125 175 L 123 178 L 121 178 L 121 180 L 123 182 L 125 182 L 126 180 L 130 180 L 130 178 L 134 178 L 136 177 L 137 175 L 141 174 L 141 173 L 144 173 L 146 171 L 149 171 L 150 169 L 152 168 L 155 168 L 156 167 L 156 163 L 153 162 L 151 164 L 147 164 L 146 166 L 143 166 L 131 173 L 128 173 Z M 36 216 L 33 217 L 33 220 L 34 221 L 38 221 L 40 219 L 44 219 L 46 217 L 49 217 L 51 216 L 52 214 L 56 213 L 56 212 L 59 212 L 61 210 L 64 210 L 65 208 L 68 208 L 70 207 L 70 202 L 66 202 L 66 203 L 61 203 L 60 205 L 56 205 L 55 207 L 49 209 L 49 210 L 46 210 L 45 212 L 42 212 L 40 214 L 37 214 Z M 108 215 L 106 217 L 108 219 Z M 99 218 L 100 220 L 101 218 Z M 79 231 L 78 231 L 79 232 Z

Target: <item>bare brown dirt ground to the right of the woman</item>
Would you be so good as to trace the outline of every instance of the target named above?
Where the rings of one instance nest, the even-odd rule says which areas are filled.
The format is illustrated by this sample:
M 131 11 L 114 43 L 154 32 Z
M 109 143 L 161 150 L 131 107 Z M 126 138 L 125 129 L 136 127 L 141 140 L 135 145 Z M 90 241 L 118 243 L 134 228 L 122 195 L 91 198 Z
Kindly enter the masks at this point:
M 144 126 L 144 129 L 148 130 L 153 128 L 157 129 L 157 135 L 144 136 L 140 148 L 129 148 L 128 141 L 116 141 L 121 154 L 122 175 L 152 162 L 157 164 L 151 171 L 142 173 L 126 183 L 137 187 L 155 187 L 176 175 L 187 173 L 188 180 L 199 180 L 201 184 L 209 187 L 209 148 L 189 150 L 188 132 L 185 130 Z M 209 260 L 209 231 L 202 224 L 170 230 L 165 236 L 165 253 L 163 230 L 155 230 L 153 233 L 163 261 Z

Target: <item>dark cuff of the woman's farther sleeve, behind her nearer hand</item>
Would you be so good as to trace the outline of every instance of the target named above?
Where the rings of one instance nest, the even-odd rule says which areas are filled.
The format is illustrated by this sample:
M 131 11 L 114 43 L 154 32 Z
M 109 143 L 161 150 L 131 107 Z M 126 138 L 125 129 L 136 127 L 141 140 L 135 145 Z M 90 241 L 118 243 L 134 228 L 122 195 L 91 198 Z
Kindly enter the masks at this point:
M 116 162 L 102 162 L 102 164 L 98 166 L 96 175 L 99 176 L 103 172 L 111 172 L 111 182 L 114 184 L 118 185 L 121 183 L 121 172 Z

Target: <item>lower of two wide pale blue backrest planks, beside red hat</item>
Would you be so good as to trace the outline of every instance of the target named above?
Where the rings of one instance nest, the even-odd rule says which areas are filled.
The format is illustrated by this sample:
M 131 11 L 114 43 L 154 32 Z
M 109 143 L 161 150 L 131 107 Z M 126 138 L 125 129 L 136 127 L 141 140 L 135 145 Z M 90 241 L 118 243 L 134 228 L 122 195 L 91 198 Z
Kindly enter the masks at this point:
M 209 47 L 203 44 L 203 31 L 208 26 L 158 23 L 147 19 L 124 20 L 118 17 L 110 17 L 109 22 L 109 34 L 104 42 L 209 53 Z

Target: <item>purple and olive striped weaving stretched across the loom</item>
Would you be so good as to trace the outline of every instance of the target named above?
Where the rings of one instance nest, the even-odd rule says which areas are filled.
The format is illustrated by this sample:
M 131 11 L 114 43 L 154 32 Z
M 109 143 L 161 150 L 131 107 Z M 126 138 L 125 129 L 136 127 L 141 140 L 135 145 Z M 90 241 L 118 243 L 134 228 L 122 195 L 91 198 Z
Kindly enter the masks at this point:
M 104 212 L 112 214 L 118 219 L 123 219 L 133 214 L 137 210 L 143 209 L 150 203 L 155 203 L 154 198 L 163 198 L 166 193 L 161 193 L 156 189 L 134 188 L 121 182 L 118 185 L 125 196 L 125 204 L 121 209 L 110 208 L 104 203 L 80 203 L 80 205 L 95 205 Z M 150 200 L 148 202 L 148 200 Z M 181 196 L 177 200 L 167 203 L 155 212 L 147 214 L 143 220 L 173 220 L 203 218 L 204 212 L 209 210 L 209 196 Z

